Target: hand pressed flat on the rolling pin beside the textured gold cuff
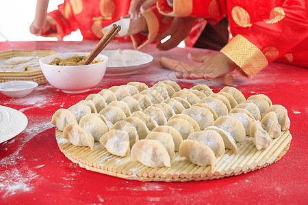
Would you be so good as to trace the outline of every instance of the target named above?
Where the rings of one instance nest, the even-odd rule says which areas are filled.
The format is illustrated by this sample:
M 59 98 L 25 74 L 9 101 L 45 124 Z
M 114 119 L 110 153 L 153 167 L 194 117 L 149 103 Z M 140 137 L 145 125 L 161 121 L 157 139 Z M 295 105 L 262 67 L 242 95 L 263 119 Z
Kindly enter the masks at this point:
M 233 71 L 237 66 L 222 53 L 218 55 L 192 55 L 188 53 L 188 59 L 202 62 L 203 64 L 192 70 L 177 74 L 177 78 L 215 79 Z

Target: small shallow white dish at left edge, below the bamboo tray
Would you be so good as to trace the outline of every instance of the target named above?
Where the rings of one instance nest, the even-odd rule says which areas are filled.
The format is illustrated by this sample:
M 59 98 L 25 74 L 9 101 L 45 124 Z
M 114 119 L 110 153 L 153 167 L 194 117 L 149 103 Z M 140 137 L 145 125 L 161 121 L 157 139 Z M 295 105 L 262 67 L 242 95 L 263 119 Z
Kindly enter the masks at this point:
M 34 81 L 8 81 L 0 83 L 0 92 L 10 98 L 22 98 L 30 94 L 38 83 Z

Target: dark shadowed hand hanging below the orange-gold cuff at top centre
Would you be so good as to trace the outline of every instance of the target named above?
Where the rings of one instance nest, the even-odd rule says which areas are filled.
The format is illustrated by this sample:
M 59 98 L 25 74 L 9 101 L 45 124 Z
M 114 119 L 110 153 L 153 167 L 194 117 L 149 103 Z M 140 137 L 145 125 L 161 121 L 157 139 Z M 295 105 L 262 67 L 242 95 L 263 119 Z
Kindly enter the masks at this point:
M 166 51 L 177 46 L 184 38 L 188 36 L 190 30 L 194 26 L 194 23 L 196 22 L 196 18 L 192 17 L 172 18 L 170 16 L 164 16 L 161 23 L 168 24 L 170 23 L 170 20 L 172 20 L 172 23 L 168 29 L 156 38 L 156 41 L 160 42 L 160 40 L 166 38 L 167 36 L 171 36 L 166 42 L 157 44 L 157 49 L 159 50 Z

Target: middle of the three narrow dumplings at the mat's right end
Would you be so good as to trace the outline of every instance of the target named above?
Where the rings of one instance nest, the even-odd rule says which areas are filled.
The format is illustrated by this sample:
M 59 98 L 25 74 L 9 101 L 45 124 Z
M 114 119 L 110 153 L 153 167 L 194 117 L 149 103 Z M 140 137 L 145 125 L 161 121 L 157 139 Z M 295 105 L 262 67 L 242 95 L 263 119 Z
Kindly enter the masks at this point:
M 270 137 L 277 138 L 281 136 L 281 125 L 279 124 L 277 114 L 274 111 L 267 113 L 261 120 L 261 124 Z

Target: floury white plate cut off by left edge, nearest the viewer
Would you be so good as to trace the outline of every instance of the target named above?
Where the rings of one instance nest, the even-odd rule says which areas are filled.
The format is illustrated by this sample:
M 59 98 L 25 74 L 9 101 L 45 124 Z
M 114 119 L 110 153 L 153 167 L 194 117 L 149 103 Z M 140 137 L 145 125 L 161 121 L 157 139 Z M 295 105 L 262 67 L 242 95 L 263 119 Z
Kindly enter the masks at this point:
M 0 105 L 0 143 L 16 137 L 27 124 L 28 119 L 25 114 Z

